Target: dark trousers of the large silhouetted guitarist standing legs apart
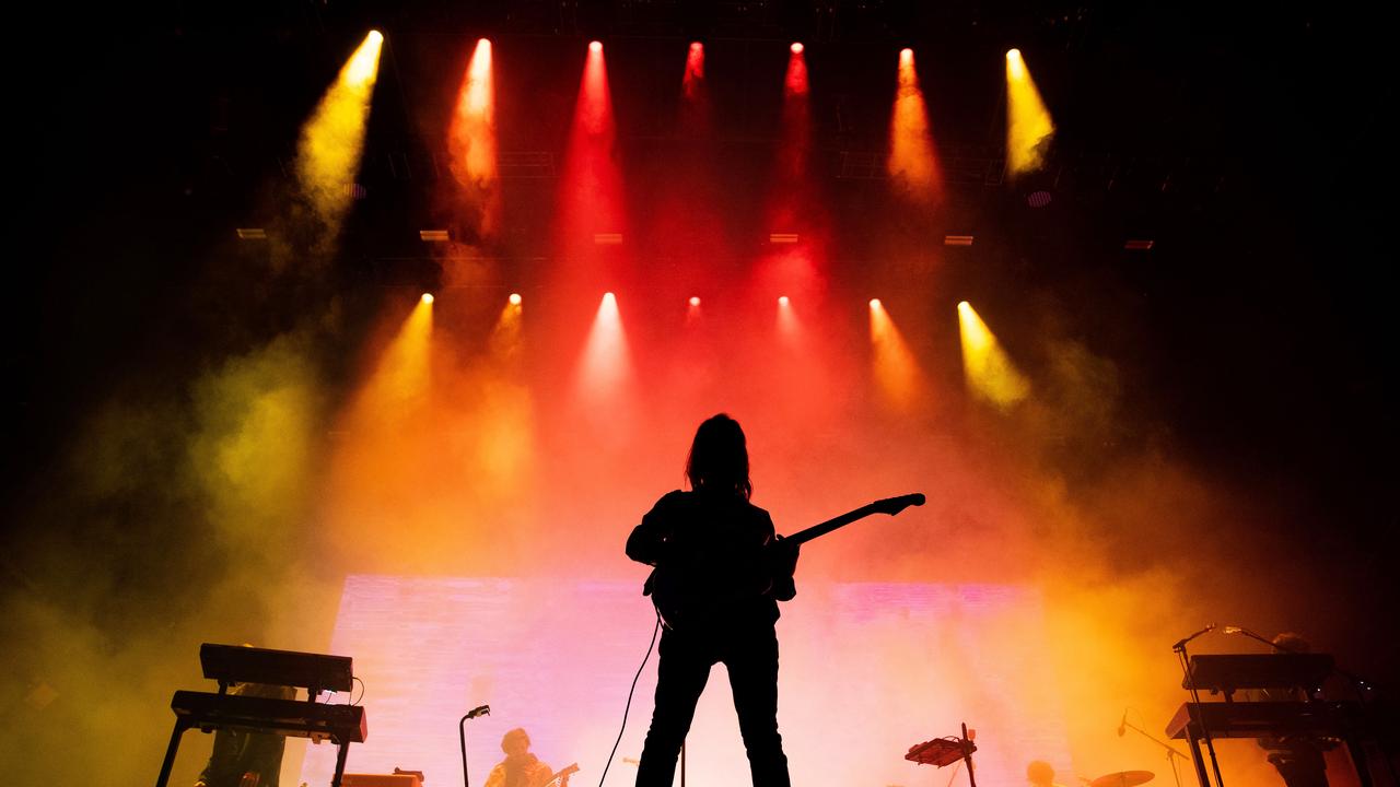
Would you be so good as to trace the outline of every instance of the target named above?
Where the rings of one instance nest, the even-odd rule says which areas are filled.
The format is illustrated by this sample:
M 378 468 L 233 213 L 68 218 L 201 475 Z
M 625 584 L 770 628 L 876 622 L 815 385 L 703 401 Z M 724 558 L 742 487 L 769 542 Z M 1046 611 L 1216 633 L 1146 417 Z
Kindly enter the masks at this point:
M 680 745 L 715 664 L 729 671 L 753 787 L 790 787 L 777 720 L 778 640 L 766 620 L 662 632 L 657 709 L 637 766 L 637 787 L 672 786 Z

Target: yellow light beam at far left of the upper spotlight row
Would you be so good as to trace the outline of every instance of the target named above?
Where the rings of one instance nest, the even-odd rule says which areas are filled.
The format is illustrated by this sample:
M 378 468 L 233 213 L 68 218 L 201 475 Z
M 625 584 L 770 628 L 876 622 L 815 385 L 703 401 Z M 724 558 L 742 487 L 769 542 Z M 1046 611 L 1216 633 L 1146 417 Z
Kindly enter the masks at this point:
M 340 234 L 346 209 L 353 199 L 370 97 L 379 73 L 384 35 L 370 31 L 350 60 L 326 90 L 311 119 L 301 127 L 297 144 L 297 179 L 302 195 L 321 220 L 326 241 Z

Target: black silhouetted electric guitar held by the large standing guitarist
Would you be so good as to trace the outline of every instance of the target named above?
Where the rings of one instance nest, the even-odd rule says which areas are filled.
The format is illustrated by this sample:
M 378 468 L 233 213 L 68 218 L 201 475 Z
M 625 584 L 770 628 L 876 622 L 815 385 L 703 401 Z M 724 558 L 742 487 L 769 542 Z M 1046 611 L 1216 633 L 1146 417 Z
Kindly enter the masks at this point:
M 924 496 L 917 493 L 890 497 L 788 538 L 778 536 L 750 553 L 707 555 L 700 549 L 699 553 L 664 559 L 652 569 L 641 592 L 651 597 L 661 623 L 668 629 L 732 622 L 734 615 L 753 599 L 792 598 L 792 571 L 799 545 L 871 514 L 895 515 L 909 506 L 923 504 Z

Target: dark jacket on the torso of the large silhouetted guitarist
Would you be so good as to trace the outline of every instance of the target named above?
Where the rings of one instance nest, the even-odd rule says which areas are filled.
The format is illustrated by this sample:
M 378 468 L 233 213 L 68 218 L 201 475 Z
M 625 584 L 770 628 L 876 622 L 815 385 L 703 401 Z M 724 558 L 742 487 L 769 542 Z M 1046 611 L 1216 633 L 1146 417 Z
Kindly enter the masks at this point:
M 633 528 L 627 557 L 657 567 L 647 591 L 668 625 L 773 625 L 797 595 L 790 571 L 774 576 L 773 541 L 773 518 L 743 497 L 678 490 Z

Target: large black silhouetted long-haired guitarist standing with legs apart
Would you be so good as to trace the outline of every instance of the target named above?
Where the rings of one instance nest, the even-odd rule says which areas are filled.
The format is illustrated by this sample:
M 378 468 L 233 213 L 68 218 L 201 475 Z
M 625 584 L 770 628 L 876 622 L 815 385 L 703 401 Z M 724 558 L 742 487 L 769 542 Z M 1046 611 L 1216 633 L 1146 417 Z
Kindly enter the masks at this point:
M 777 602 L 797 595 L 798 546 L 770 546 L 777 539 L 773 520 L 749 503 L 749 452 L 729 416 L 700 424 L 686 478 L 692 490 L 657 501 L 627 539 L 629 557 L 657 567 L 648 592 L 666 622 L 637 787 L 671 787 L 696 702 L 717 662 L 729 672 L 755 787 L 788 787 L 774 623 Z

